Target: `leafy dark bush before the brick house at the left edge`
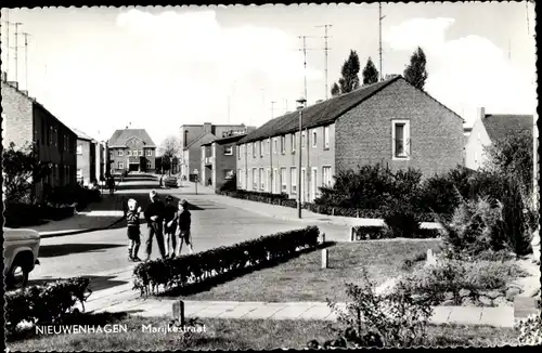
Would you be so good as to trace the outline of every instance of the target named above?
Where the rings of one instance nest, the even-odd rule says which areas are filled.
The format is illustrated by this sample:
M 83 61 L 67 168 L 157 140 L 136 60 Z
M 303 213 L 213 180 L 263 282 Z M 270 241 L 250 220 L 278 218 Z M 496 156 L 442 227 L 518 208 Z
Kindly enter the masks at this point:
M 13 142 L 2 152 L 3 193 L 7 201 L 33 204 L 33 187 L 50 172 L 49 164 L 38 159 L 35 144 L 16 148 Z

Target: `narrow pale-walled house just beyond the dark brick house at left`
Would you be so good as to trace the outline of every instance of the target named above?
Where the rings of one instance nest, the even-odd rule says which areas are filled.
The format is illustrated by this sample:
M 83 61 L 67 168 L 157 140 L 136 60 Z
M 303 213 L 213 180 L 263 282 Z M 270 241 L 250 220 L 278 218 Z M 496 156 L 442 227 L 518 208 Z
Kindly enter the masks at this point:
M 85 186 L 90 185 L 96 178 L 96 147 L 99 143 L 82 131 L 74 129 L 77 133 L 77 182 Z

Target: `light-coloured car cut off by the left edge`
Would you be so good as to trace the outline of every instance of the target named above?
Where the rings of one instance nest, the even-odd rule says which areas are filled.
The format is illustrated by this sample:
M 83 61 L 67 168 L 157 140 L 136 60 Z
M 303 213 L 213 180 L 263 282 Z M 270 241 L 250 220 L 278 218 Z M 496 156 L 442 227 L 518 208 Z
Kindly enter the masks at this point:
M 23 288 L 39 264 L 40 236 L 34 230 L 3 228 L 3 275 L 8 289 Z

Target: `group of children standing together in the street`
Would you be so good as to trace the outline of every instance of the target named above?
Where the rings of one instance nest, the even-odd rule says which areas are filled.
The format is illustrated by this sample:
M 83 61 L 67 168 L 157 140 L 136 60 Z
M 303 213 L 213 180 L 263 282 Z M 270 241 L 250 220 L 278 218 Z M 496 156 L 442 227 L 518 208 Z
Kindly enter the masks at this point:
M 178 257 L 181 254 L 182 244 L 186 243 L 190 253 L 193 253 L 191 227 L 191 213 L 189 211 L 189 204 L 186 200 L 181 200 L 178 207 L 171 205 L 172 197 L 166 197 L 166 206 L 164 214 L 160 219 L 164 220 L 162 228 L 164 230 L 164 238 L 156 237 L 158 241 L 165 240 L 166 258 Z M 128 247 L 128 259 L 130 261 L 139 262 L 141 259 L 138 257 L 138 251 L 141 245 L 141 231 L 140 231 L 140 214 L 141 207 L 134 199 L 128 200 L 128 210 L 126 212 L 127 220 L 127 234 L 130 240 Z M 146 211 L 145 211 L 146 212 Z M 162 222 L 160 222 L 162 223 Z M 162 224 L 160 224 L 162 225 Z M 179 239 L 177 239 L 179 238 Z M 169 254 L 169 245 L 172 245 L 171 254 Z M 160 245 L 160 244 L 159 244 Z M 162 251 L 163 249 L 160 249 Z M 147 250 L 150 252 L 150 249 Z M 149 260 L 150 253 L 147 254 Z

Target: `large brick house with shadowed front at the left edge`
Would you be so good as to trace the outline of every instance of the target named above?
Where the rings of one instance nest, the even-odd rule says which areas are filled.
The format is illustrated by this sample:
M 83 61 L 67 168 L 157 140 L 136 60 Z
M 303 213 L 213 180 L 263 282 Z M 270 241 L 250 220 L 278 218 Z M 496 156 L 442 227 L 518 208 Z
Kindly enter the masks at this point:
M 37 146 L 38 159 L 51 165 L 51 173 L 34 189 L 37 199 L 42 199 L 47 186 L 75 184 L 77 134 L 28 92 L 20 90 L 17 82 L 8 82 L 4 73 L 1 94 L 2 146 L 7 148 L 13 142 L 22 147 L 31 142 Z

